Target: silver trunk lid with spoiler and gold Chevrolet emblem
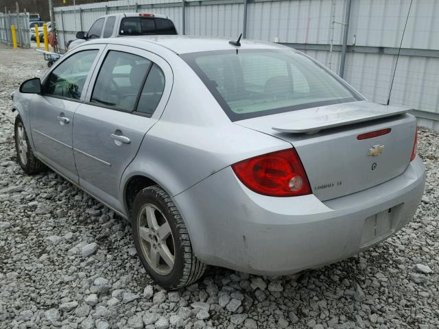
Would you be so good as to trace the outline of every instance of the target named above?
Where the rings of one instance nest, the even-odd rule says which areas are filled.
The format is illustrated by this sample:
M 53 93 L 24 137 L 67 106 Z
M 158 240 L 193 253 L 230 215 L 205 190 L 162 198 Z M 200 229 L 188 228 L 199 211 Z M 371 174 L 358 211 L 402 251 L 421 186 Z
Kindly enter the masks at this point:
M 325 201 L 401 175 L 410 163 L 416 119 L 407 108 L 355 101 L 235 121 L 291 143 L 313 194 Z M 390 128 L 358 140 L 359 134 Z

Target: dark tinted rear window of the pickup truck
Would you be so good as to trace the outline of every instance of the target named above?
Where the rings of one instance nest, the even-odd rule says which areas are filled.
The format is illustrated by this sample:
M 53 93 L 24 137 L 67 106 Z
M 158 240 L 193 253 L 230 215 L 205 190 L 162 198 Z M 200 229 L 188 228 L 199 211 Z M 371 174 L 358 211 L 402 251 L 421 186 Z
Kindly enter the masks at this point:
M 139 36 L 148 34 L 177 34 L 174 23 L 169 19 L 153 17 L 125 17 L 119 30 L 121 36 Z

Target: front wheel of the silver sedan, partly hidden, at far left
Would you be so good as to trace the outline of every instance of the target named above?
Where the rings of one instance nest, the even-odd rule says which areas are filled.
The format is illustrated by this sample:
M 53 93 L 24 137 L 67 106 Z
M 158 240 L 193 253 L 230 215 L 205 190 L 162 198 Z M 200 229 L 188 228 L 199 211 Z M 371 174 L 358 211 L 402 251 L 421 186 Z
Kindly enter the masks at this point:
M 29 138 L 27 138 L 25 125 L 19 115 L 15 118 L 14 138 L 16 158 L 21 169 L 29 175 L 43 171 L 45 165 L 34 155 L 34 151 L 30 147 Z

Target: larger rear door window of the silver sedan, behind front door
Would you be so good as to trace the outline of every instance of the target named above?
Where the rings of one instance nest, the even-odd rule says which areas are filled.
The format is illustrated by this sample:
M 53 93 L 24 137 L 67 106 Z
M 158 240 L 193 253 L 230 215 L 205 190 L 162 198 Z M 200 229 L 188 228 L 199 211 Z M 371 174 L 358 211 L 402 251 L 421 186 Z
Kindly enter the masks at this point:
M 150 60 L 132 53 L 109 51 L 97 75 L 91 102 L 134 110 L 150 65 Z

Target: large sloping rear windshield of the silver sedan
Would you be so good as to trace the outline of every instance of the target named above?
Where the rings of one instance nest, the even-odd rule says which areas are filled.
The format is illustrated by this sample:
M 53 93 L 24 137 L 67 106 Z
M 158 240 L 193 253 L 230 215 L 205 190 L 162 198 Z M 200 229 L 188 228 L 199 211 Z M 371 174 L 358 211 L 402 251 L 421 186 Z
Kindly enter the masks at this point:
M 181 57 L 232 121 L 361 99 L 294 50 L 206 51 Z

